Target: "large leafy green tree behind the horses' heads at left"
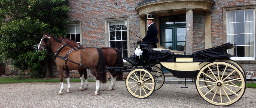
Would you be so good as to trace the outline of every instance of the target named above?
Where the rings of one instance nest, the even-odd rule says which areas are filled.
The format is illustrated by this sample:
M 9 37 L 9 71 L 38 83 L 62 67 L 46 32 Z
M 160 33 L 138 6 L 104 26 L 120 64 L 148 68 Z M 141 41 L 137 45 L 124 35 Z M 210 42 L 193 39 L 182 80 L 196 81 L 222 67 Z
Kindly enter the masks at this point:
M 45 52 L 37 45 L 42 31 L 64 35 L 69 23 L 68 0 L 0 0 L 0 56 L 10 59 L 20 71 L 44 76 Z

